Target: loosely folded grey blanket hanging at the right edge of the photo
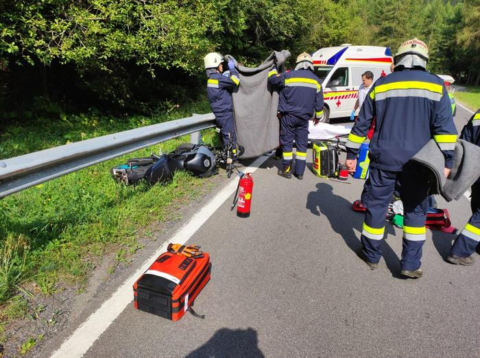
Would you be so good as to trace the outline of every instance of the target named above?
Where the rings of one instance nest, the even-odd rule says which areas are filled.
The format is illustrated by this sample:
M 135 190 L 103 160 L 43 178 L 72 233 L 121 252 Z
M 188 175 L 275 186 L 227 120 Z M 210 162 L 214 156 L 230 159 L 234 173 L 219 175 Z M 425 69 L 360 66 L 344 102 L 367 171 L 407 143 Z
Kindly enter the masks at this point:
M 458 200 L 480 177 L 480 147 L 457 140 L 453 167 L 445 179 L 445 159 L 435 140 L 430 140 L 420 149 L 410 162 L 419 164 L 429 169 L 431 180 L 431 194 L 442 194 L 446 201 Z

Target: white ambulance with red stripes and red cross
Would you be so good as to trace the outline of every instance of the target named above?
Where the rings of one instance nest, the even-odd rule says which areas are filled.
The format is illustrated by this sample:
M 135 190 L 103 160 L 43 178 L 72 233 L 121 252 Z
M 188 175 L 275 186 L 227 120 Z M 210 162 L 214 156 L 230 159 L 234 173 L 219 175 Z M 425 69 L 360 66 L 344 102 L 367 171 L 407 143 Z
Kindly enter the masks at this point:
M 320 121 L 325 123 L 330 118 L 350 117 L 358 98 L 362 73 L 371 71 L 376 81 L 390 73 L 394 61 L 389 47 L 350 44 L 315 51 L 312 60 L 324 91 L 324 116 Z

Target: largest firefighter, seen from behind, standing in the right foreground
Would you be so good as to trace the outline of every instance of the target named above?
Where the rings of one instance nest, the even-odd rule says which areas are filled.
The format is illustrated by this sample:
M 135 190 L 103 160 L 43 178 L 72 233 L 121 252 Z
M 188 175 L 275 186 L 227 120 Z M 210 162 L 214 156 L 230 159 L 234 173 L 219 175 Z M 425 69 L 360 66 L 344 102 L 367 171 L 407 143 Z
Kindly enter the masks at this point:
M 378 268 L 385 214 L 398 179 L 404 209 L 400 274 L 411 278 L 423 273 L 420 259 L 429 183 L 407 162 L 433 138 L 444 154 L 444 175 L 448 177 L 457 140 L 448 93 L 440 77 L 425 71 L 428 60 L 427 45 L 417 38 L 400 45 L 394 56 L 394 73 L 374 83 L 346 143 L 345 164 L 353 172 L 360 145 L 376 118 L 370 141 L 370 180 L 362 197 L 367 210 L 361 256 L 372 270 Z

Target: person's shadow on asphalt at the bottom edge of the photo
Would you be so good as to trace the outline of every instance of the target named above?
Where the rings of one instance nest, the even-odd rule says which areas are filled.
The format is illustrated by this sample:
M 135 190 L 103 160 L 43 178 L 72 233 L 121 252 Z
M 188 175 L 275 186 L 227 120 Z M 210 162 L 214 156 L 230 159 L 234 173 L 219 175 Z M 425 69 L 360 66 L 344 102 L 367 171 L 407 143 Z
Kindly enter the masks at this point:
M 252 357 L 263 358 L 259 339 L 254 329 L 219 329 L 203 346 L 189 353 L 187 358 Z

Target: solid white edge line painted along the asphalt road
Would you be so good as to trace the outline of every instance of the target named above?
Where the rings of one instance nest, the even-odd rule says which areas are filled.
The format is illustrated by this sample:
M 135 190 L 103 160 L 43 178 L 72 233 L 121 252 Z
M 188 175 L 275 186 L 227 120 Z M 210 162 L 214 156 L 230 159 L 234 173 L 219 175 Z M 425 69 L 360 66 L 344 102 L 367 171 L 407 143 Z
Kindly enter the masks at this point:
M 254 172 L 269 156 L 262 156 L 256 159 L 252 166 L 245 168 L 243 172 Z M 209 203 L 207 203 L 200 212 L 197 212 L 191 218 L 186 225 L 180 228 L 173 237 L 165 242 L 162 247 L 158 249 L 154 255 L 145 261 L 139 270 L 137 270 L 132 276 L 126 280 L 119 289 L 112 294 L 107 301 L 105 301 L 97 311 L 91 314 L 80 327 L 56 350 L 51 357 L 82 357 L 87 350 L 95 343 L 100 337 L 101 333 L 104 333 L 106 329 L 112 324 L 127 307 L 133 299 L 132 285 L 145 272 L 152 261 L 156 259 L 160 254 L 167 251 L 167 246 L 171 242 L 178 244 L 185 244 L 191 236 L 202 227 L 204 222 L 210 218 L 213 213 L 221 206 L 221 204 L 230 197 L 230 195 L 237 189 L 237 180 L 232 179 L 228 185 L 222 189 Z M 234 215 L 234 214 L 232 214 Z

